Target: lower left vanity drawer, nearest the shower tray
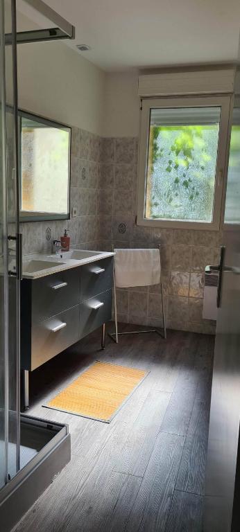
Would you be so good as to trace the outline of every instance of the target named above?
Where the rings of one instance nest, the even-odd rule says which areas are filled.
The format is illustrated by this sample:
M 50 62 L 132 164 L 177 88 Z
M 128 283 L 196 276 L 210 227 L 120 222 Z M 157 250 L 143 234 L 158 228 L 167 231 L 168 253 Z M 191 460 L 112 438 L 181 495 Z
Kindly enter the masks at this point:
M 79 305 L 33 324 L 31 371 L 79 339 Z

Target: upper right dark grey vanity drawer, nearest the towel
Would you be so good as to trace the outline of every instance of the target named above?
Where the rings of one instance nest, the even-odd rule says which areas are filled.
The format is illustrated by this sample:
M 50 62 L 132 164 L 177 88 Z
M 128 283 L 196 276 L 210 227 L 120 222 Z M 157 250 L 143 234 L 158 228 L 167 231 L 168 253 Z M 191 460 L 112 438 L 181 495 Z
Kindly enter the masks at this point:
M 80 301 L 112 288 L 112 257 L 81 267 Z

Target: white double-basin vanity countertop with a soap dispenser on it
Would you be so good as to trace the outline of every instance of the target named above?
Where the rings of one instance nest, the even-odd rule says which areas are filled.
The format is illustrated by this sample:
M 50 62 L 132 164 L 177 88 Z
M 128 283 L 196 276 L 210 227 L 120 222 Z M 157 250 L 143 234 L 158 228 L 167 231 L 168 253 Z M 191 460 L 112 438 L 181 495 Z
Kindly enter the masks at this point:
M 62 251 L 59 254 L 28 255 L 23 258 L 22 276 L 25 279 L 38 279 L 112 256 L 114 253 L 110 251 L 88 251 L 85 249 L 70 249 L 70 251 Z M 44 263 L 46 263 L 46 267 Z

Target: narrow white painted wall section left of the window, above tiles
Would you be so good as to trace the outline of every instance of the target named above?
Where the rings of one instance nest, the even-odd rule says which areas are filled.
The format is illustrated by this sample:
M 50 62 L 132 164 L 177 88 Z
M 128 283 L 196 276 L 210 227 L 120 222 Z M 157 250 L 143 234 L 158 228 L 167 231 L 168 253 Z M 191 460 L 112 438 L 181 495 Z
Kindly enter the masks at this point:
M 137 73 L 108 73 L 105 85 L 103 136 L 138 136 Z

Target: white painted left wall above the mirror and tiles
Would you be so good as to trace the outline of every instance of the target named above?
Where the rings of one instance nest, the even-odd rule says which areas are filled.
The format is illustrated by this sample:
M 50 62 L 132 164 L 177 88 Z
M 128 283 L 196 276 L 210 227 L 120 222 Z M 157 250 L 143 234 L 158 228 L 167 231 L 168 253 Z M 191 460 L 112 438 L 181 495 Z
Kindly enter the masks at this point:
M 21 44 L 19 107 L 102 134 L 105 73 L 62 42 Z

